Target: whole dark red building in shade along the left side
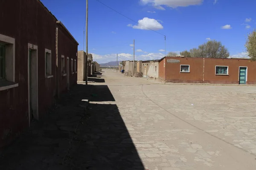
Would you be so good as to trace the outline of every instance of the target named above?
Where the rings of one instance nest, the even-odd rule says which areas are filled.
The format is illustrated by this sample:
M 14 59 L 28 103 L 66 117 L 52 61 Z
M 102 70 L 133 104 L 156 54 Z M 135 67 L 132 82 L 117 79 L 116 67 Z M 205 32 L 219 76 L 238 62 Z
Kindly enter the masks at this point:
M 3 147 L 32 119 L 41 120 L 55 97 L 76 84 L 78 42 L 40 0 L 3 0 L 0 11 L 6 23 L 0 26 Z

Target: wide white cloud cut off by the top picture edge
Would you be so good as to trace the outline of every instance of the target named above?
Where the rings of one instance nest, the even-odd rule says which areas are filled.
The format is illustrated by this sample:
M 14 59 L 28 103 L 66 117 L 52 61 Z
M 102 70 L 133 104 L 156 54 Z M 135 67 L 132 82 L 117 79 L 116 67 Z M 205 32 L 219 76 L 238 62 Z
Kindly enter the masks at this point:
M 165 10 L 163 6 L 177 8 L 192 5 L 201 5 L 204 2 L 204 0 L 140 0 L 140 2 L 143 4 L 152 5 L 160 10 Z

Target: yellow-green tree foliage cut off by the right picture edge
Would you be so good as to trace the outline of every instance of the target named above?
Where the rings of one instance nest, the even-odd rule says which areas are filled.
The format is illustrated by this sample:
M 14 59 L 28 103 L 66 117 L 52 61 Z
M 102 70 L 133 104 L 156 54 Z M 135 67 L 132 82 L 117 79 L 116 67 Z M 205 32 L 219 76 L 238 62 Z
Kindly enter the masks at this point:
M 250 59 L 256 61 L 256 30 L 248 34 L 245 47 Z

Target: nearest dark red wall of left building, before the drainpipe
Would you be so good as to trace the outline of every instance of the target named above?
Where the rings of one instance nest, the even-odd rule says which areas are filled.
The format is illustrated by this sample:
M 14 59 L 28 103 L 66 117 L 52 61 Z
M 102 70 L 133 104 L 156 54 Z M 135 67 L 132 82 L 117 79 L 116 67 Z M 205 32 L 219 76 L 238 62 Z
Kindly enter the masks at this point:
M 16 88 L 0 91 L 0 147 L 28 127 L 28 43 L 38 45 L 38 109 L 44 113 L 55 91 L 56 19 L 37 0 L 0 0 L 0 34 L 15 38 Z M 45 79 L 45 48 L 52 50 L 53 78 Z M 40 97 L 39 97 L 40 96 Z M 39 118 L 43 116 L 39 114 Z

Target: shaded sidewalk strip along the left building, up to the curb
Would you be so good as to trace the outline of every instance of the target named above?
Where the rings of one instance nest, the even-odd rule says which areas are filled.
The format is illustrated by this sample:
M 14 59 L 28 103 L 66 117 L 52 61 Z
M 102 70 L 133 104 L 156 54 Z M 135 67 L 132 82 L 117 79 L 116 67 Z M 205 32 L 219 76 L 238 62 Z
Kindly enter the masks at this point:
M 70 141 L 82 117 L 92 85 L 75 85 L 60 95 L 44 119 L 34 121 L 0 151 L 0 170 L 63 170 Z M 82 101 L 85 100 L 85 101 Z

